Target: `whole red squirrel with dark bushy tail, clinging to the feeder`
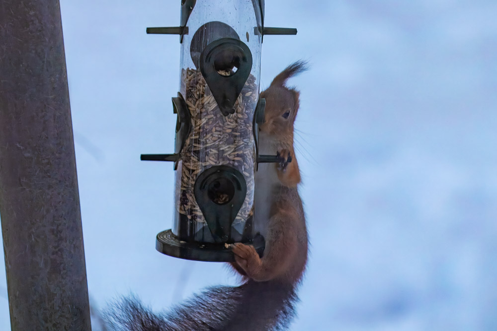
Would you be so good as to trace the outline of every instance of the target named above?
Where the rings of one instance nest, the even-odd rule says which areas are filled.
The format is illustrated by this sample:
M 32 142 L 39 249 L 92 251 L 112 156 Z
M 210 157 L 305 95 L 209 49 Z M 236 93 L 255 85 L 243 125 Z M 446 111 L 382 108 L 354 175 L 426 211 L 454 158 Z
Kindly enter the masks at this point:
M 300 171 L 293 148 L 299 92 L 288 78 L 307 69 L 303 61 L 288 66 L 260 93 L 266 99 L 259 127 L 260 154 L 280 161 L 259 164 L 255 175 L 255 219 L 266 247 L 262 258 L 250 245 L 230 245 L 231 265 L 244 279 L 237 287 L 204 290 L 169 312 L 156 315 L 135 297 L 125 297 L 104 312 L 110 330 L 122 331 L 262 331 L 287 329 L 295 315 L 296 287 L 307 263 L 308 239 Z

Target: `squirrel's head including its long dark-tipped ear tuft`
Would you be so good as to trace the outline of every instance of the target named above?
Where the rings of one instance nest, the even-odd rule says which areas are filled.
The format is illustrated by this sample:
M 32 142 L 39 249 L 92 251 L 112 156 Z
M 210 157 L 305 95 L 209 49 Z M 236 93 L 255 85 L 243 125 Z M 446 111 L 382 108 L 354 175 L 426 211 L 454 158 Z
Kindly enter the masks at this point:
M 297 61 L 287 66 L 271 82 L 269 87 L 260 93 L 266 99 L 264 123 L 259 126 L 261 132 L 269 135 L 293 137 L 293 123 L 299 110 L 299 91 L 288 88 L 285 83 L 288 78 L 307 70 L 305 61 Z

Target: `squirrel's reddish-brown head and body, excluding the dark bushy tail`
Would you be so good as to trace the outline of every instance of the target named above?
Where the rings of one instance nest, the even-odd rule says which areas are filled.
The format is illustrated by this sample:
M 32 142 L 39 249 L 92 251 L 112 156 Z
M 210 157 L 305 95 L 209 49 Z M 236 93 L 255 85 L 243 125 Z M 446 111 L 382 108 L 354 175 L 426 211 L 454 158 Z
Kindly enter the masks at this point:
M 271 197 L 265 236 L 266 248 L 262 258 L 259 258 L 252 246 L 236 243 L 232 248 L 236 260 L 236 263 L 232 264 L 233 267 L 245 278 L 255 281 L 274 280 L 296 285 L 301 280 L 307 263 L 306 221 L 302 200 L 297 192 L 301 177 L 293 148 L 299 92 L 285 86 L 289 77 L 303 70 L 303 62 L 288 66 L 260 94 L 261 98 L 266 99 L 266 108 L 264 123 L 259 127 L 259 146 L 274 150 L 282 161 L 270 165 L 274 166 L 276 171 L 271 172 L 269 176 L 277 176 L 277 179 L 269 180 L 274 180 L 276 184 L 268 190 L 269 192 L 259 193 Z M 289 156 L 291 160 L 288 159 Z M 257 205 L 255 207 L 257 208 Z

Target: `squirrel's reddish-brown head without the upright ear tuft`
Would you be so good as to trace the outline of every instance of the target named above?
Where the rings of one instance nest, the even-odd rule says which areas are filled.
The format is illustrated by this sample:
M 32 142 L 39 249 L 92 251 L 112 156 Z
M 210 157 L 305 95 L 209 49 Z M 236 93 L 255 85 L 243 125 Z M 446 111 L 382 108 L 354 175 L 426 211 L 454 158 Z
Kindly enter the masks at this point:
M 292 135 L 293 123 L 299 110 L 299 92 L 285 86 L 269 86 L 260 93 L 266 99 L 261 132 L 269 135 Z

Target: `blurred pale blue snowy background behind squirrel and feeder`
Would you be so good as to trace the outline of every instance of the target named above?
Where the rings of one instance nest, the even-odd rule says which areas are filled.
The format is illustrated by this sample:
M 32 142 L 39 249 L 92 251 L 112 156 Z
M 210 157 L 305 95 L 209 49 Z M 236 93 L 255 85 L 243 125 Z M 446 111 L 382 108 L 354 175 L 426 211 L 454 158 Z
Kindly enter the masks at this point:
M 89 294 L 167 308 L 223 265 L 171 227 L 179 0 L 61 0 Z M 261 89 L 308 59 L 298 157 L 312 242 L 292 330 L 497 330 L 497 2 L 266 0 Z M 1 249 L 1 248 L 0 248 Z M 8 330 L 0 272 L 0 330 Z M 96 329 L 96 328 L 95 328 Z

